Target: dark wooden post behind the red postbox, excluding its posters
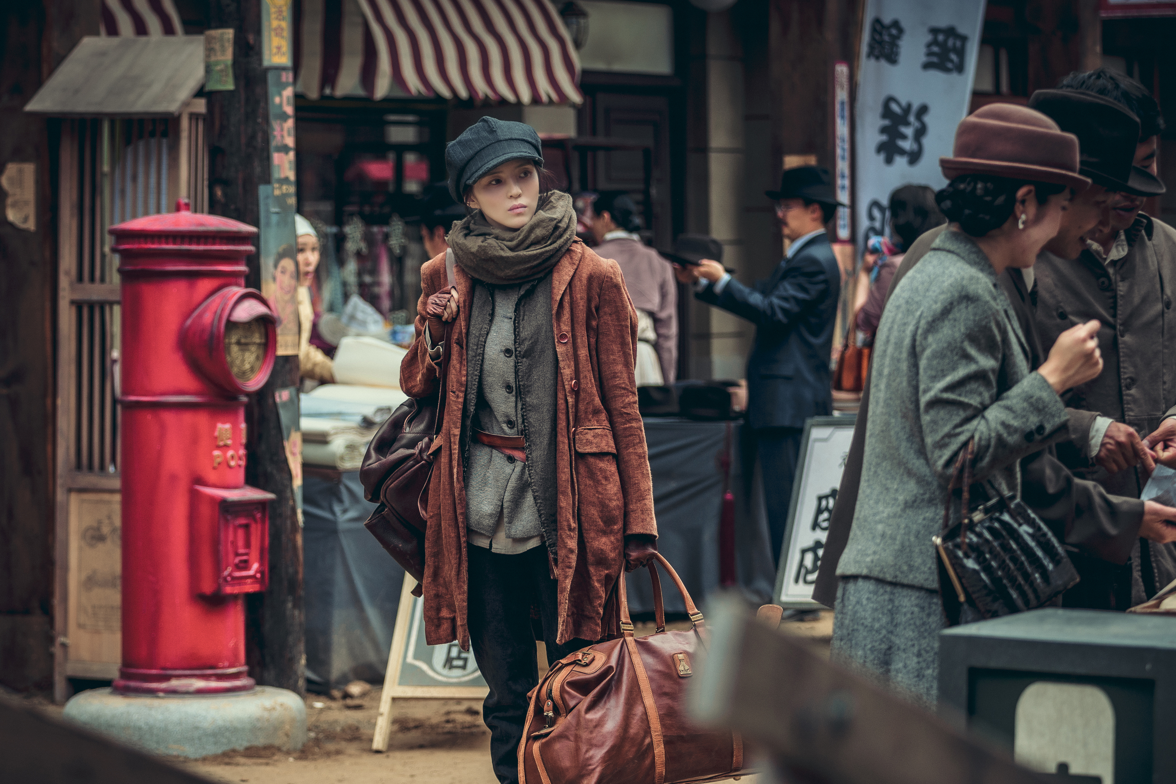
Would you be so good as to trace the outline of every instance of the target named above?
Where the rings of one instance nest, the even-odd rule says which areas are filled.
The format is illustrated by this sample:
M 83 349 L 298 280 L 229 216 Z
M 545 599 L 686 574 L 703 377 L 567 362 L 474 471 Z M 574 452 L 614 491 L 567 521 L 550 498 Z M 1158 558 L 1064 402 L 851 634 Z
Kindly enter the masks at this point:
M 260 226 L 258 186 L 270 182 L 261 1 L 212 0 L 209 28 L 233 28 L 236 88 L 208 94 L 209 212 Z M 261 288 L 261 258 L 249 257 L 248 286 Z M 298 357 L 278 357 L 269 381 L 249 400 L 246 481 L 278 499 L 269 506 L 269 589 L 249 594 L 246 645 L 259 684 L 306 693 L 302 529 L 282 444 L 274 391 L 296 386 Z

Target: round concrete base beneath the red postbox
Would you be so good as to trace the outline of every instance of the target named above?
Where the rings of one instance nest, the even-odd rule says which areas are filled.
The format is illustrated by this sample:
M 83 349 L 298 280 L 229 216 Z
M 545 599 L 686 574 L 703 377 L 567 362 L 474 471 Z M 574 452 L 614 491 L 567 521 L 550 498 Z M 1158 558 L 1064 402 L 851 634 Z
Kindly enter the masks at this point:
M 142 751 L 175 757 L 268 745 L 296 751 L 306 743 L 306 704 L 293 691 L 273 686 L 175 697 L 92 689 L 66 703 L 65 717 Z

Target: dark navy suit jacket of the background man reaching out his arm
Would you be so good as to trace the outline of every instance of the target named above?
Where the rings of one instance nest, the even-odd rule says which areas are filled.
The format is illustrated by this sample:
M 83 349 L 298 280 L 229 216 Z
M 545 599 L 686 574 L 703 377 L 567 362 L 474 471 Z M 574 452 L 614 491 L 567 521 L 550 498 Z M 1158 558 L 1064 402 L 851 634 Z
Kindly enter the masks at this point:
M 829 238 L 807 241 L 754 288 L 731 278 L 721 294 L 695 294 L 755 324 L 747 360 L 747 411 L 751 427 L 803 427 L 833 413 L 829 357 L 841 295 L 841 270 Z

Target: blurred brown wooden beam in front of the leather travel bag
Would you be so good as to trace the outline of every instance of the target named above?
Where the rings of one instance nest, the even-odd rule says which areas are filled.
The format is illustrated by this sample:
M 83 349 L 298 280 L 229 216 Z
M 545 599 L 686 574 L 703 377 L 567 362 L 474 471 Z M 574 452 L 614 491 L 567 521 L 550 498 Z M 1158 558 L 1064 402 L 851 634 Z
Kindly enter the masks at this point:
M 944 722 L 831 665 L 803 640 L 716 598 L 706 667 L 689 707 L 707 726 L 740 732 L 806 784 L 1030 784 L 1018 768 Z M 761 778 L 766 775 L 761 775 Z M 767 784 L 767 782 L 764 782 Z

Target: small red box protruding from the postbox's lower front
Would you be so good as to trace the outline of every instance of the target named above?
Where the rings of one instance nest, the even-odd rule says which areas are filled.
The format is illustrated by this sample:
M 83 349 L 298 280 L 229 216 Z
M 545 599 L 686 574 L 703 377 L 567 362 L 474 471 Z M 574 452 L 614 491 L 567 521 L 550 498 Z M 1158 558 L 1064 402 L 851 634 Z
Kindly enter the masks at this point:
M 254 487 L 193 487 L 193 589 L 202 596 L 265 591 L 269 580 L 269 501 Z

